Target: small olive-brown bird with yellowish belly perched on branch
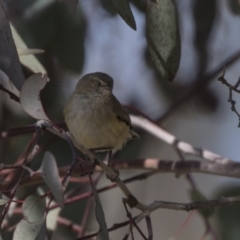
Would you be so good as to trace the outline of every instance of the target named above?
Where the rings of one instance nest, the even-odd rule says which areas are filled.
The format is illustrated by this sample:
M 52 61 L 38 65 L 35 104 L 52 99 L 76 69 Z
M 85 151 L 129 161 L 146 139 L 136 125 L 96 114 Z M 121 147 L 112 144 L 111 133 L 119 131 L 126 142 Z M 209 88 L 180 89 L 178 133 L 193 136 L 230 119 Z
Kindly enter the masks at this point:
M 65 121 L 73 137 L 95 151 L 121 149 L 139 135 L 131 119 L 112 94 L 113 79 L 101 72 L 83 76 L 64 108 Z

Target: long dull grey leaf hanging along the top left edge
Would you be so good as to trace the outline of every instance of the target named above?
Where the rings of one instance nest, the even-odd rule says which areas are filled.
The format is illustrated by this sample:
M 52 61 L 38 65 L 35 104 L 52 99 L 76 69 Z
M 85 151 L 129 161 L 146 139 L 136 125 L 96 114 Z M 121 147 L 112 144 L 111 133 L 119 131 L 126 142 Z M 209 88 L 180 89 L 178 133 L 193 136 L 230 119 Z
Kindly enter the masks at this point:
M 1 1 L 0 19 L 0 69 L 7 74 L 16 88 L 20 90 L 25 81 L 25 77 L 19 62 L 9 21 Z

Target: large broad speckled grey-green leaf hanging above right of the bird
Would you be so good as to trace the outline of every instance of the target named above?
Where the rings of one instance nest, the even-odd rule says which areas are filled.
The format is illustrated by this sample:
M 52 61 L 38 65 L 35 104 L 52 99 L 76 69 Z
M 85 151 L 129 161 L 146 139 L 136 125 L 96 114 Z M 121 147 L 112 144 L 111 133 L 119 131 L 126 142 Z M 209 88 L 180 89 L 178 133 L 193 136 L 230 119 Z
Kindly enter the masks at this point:
M 156 2 L 149 2 L 146 13 L 148 50 L 158 72 L 168 81 L 172 81 L 181 57 L 176 7 L 172 0 Z

